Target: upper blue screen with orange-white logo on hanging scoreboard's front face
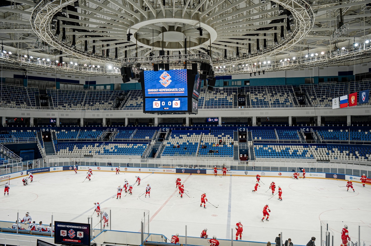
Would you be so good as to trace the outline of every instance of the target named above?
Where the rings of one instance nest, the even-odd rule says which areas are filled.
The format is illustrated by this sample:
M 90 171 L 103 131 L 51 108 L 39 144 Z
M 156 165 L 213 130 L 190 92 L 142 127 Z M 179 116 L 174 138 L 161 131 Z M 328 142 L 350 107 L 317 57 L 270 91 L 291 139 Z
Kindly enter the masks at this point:
M 187 69 L 144 71 L 145 97 L 187 97 Z

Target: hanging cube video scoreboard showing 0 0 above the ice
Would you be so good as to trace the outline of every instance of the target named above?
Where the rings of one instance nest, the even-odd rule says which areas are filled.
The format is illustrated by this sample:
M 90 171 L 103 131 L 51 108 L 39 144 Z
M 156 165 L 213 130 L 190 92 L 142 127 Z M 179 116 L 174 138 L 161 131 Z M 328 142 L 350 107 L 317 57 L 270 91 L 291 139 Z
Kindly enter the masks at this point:
M 197 92 L 197 75 L 192 75 L 191 70 L 142 71 L 140 78 L 144 113 L 198 113 L 201 83 Z

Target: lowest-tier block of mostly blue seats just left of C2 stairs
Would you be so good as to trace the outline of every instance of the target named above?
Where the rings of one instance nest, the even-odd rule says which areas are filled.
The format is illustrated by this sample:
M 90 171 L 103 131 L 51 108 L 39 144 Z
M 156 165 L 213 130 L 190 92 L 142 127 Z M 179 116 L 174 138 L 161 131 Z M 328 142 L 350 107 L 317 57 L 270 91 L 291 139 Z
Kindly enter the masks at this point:
M 105 144 L 99 155 L 142 155 L 148 144 Z

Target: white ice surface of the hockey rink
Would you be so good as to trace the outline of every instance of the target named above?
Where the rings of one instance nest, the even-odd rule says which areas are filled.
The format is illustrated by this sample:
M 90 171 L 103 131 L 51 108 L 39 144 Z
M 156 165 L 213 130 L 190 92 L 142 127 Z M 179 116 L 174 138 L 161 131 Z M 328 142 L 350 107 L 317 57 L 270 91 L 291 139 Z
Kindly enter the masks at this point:
M 125 178 L 134 184 L 136 175 L 141 177 L 141 184 L 134 185 L 133 195 L 122 192 L 121 199 L 116 199 L 116 188 L 123 186 Z M 334 235 L 334 245 L 341 244 L 344 224 L 349 226 L 352 242 L 358 242 L 359 228 L 360 245 L 371 245 L 370 185 L 362 188 L 361 183 L 354 182 L 355 192 L 351 189 L 347 192 L 346 187 L 339 187 L 345 186 L 346 181 L 262 177 L 265 184 L 260 183 L 258 191 L 252 192 L 256 179 L 249 176 L 132 172 L 116 175 L 94 171 L 91 181 L 84 181 L 85 177 L 86 171 L 37 173 L 27 186 L 23 186 L 22 178 L 11 179 L 10 195 L 0 198 L 0 220 L 15 221 L 17 212 L 20 218 L 30 212 L 32 220 L 36 223 L 42 220 L 43 224 L 49 224 L 52 215 L 54 221 L 83 223 L 92 216 L 92 225 L 100 228 L 99 217 L 93 213 L 93 202 L 99 202 L 110 215 L 111 230 L 139 232 L 143 221 L 145 232 L 149 228 L 150 233 L 164 234 L 167 238 L 175 233 L 185 235 L 187 225 L 187 236 L 199 237 L 207 228 L 209 237 L 230 239 L 231 229 L 234 235 L 234 226 L 241 220 L 243 240 L 274 242 L 282 232 L 283 240 L 290 237 L 294 245 L 306 245 L 312 236 L 316 237 L 316 245 L 322 245 L 323 220 L 323 227 L 328 226 Z M 184 182 L 183 198 L 175 188 L 177 177 Z M 278 185 L 282 188 L 283 201 L 278 200 L 278 195 L 271 198 L 268 189 L 272 181 L 276 183 L 276 193 Z M 150 198 L 142 195 L 147 183 L 152 187 Z M 200 207 L 203 192 L 210 202 L 206 209 Z M 262 222 L 266 203 L 270 217 Z

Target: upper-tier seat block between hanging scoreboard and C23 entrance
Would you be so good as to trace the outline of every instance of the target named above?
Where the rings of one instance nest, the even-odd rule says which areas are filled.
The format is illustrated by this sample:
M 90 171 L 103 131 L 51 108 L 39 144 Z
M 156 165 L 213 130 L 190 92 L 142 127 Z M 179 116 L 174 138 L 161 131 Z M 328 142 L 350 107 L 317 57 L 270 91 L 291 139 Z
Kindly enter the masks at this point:
M 204 108 L 233 108 L 233 97 L 237 88 L 218 88 L 205 92 Z

